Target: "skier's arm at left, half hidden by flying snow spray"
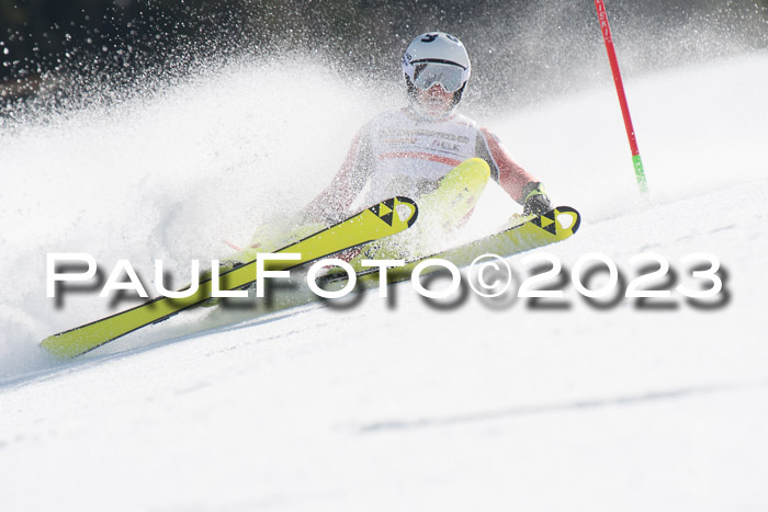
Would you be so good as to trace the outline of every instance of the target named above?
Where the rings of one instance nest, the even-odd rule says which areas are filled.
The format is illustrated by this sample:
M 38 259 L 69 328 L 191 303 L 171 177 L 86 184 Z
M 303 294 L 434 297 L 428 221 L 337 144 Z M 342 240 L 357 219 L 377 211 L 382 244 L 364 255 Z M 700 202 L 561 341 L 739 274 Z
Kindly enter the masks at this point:
M 304 208 L 304 217 L 326 224 L 342 217 L 365 186 L 372 170 L 370 132 L 365 126 L 355 135 L 347 158 L 330 184 Z

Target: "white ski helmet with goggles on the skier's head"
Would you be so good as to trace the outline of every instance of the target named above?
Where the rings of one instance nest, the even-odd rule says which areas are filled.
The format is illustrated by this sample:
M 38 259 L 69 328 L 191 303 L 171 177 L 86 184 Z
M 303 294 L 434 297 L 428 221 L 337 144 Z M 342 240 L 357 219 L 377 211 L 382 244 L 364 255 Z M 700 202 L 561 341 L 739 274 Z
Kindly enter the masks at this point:
M 453 106 L 460 101 L 472 75 L 466 48 L 456 36 L 444 32 L 427 32 L 416 37 L 403 56 L 403 75 L 411 98 L 416 89 L 427 90 L 440 83 L 453 92 Z

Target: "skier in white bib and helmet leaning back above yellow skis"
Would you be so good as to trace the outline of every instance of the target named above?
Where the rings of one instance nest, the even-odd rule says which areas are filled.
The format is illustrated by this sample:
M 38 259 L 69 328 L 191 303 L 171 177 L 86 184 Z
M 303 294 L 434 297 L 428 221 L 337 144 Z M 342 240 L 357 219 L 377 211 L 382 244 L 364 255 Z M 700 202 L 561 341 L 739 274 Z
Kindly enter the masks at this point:
M 471 73 L 470 56 L 458 37 L 444 32 L 416 37 L 403 56 L 408 105 L 375 117 L 358 133 L 341 169 L 306 207 L 305 218 L 340 220 L 366 184 L 366 205 L 394 195 L 418 197 L 473 157 L 488 163 L 492 179 L 523 206 L 524 215 L 549 211 L 541 182 L 512 160 L 495 135 L 455 112 Z

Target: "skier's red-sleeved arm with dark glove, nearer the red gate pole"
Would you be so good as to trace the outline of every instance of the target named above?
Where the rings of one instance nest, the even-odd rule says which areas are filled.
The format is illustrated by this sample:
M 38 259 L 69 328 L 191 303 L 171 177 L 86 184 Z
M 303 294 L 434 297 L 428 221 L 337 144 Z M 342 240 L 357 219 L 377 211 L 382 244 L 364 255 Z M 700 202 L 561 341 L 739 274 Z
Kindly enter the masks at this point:
M 540 181 L 528 173 L 485 128 L 477 134 L 477 157 L 488 162 L 490 177 L 519 204 L 523 213 L 541 214 L 550 209 L 550 198 Z

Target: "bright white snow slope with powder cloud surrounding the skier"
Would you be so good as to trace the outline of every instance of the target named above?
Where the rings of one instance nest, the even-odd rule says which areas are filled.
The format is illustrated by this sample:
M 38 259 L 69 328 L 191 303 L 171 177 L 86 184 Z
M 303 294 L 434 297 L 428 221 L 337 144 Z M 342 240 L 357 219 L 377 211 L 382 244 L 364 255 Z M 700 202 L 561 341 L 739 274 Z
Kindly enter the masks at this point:
M 680 260 L 708 252 L 713 304 L 595 305 L 569 282 L 554 304 L 434 304 L 405 283 L 228 326 L 190 312 L 68 363 L 37 342 L 134 303 L 57 306 L 46 253 L 187 272 L 308 201 L 372 99 L 398 99 L 242 65 L 22 120 L 0 145 L 0 508 L 766 510 L 765 83 L 765 53 L 628 80 L 647 200 L 610 81 L 484 123 L 581 212 L 546 248 L 566 276 L 601 252 L 632 278 L 629 260 L 655 252 L 696 287 Z

